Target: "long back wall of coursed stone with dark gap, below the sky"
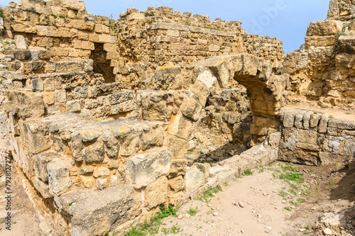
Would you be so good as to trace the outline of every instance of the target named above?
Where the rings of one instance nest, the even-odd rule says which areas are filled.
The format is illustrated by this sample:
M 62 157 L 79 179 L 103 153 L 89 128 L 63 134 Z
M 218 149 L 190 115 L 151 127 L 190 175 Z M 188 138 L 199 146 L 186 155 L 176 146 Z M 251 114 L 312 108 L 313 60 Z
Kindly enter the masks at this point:
M 157 67 L 187 65 L 206 57 L 248 52 L 282 62 L 282 42 L 248 35 L 239 21 L 209 21 L 167 7 L 119 20 L 92 16 L 82 1 L 22 1 L 3 8 L 4 35 L 24 35 L 30 47 L 44 47 L 52 61 L 92 59 L 94 72 L 123 89 L 148 89 Z

